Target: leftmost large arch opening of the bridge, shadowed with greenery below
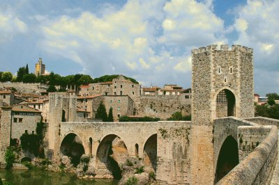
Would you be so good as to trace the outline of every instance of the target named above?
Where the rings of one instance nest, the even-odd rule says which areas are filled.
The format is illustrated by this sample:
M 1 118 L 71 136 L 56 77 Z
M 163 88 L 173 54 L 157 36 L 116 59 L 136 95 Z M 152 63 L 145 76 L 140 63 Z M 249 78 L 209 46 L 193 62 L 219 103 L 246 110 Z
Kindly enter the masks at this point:
M 84 154 L 82 140 L 77 134 L 68 134 L 62 140 L 60 152 L 64 156 L 69 156 L 71 163 L 73 163 L 74 166 L 77 166 L 80 163 L 80 157 Z

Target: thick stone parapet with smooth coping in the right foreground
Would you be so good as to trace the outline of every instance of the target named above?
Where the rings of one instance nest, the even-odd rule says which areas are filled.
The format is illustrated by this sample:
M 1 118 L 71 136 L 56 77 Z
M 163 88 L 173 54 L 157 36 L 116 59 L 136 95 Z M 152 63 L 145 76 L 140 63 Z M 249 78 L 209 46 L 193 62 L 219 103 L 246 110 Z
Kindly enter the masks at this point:
M 262 143 L 218 182 L 221 184 L 269 184 L 278 156 L 278 129 L 275 126 L 239 127 L 239 131 L 251 134 L 269 134 Z

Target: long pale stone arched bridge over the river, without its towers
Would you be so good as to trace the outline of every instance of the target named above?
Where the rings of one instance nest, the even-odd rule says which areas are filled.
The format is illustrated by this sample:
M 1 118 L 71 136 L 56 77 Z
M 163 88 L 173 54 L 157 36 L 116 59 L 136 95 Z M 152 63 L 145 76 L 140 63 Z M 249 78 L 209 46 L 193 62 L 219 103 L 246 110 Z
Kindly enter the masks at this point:
M 279 120 L 268 118 L 213 120 L 213 173 L 208 175 L 213 177 L 214 183 L 270 183 L 278 147 L 277 127 L 269 125 L 278 124 Z M 91 157 L 91 166 L 99 177 L 112 177 L 113 171 L 107 163 L 113 154 L 119 166 L 127 159 L 140 161 L 156 172 L 157 179 L 195 184 L 195 175 L 191 173 L 195 164 L 191 161 L 196 160 L 196 155 L 191 151 L 197 140 L 191 136 L 192 127 L 192 123 L 186 121 L 61 122 L 57 156 L 65 154 L 63 143 L 73 135 L 72 140 L 75 138 L 84 147 L 83 154 Z M 119 140 L 122 144 L 115 147 Z

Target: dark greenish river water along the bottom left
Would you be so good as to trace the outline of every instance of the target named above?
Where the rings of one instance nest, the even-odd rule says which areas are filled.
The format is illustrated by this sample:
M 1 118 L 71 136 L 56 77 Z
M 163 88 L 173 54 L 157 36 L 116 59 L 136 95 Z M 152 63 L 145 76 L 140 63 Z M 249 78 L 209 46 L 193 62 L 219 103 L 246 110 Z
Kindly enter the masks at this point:
M 1 179 L 6 179 L 13 185 L 116 185 L 114 179 L 77 179 L 75 175 L 62 172 L 48 172 L 43 170 L 0 170 Z

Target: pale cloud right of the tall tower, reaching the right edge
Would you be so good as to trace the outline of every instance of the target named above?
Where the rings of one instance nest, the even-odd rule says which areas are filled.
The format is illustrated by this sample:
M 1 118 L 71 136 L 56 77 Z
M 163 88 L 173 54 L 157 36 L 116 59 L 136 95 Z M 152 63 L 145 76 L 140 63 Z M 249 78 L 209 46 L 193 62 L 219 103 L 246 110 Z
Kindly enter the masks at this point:
M 235 43 L 254 48 L 255 90 L 262 94 L 278 91 L 272 80 L 279 70 L 278 9 L 279 1 L 248 0 L 236 13 L 234 27 L 239 38 Z

